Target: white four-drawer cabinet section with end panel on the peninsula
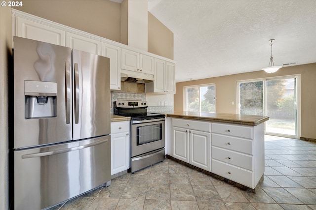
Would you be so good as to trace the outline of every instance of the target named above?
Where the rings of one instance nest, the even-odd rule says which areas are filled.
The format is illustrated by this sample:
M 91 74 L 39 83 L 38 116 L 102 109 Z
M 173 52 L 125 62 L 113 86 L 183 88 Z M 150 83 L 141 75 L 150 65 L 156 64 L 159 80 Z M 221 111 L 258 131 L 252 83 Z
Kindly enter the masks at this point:
M 254 189 L 264 173 L 263 123 L 212 122 L 211 172 Z

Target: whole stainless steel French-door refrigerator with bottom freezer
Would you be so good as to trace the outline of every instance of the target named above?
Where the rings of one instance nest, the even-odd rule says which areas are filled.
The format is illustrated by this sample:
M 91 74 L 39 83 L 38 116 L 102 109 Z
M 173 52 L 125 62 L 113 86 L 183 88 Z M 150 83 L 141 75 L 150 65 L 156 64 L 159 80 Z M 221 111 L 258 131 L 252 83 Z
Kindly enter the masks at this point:
M 14 207 L 111 183 L 110 60 L 14 37 Z

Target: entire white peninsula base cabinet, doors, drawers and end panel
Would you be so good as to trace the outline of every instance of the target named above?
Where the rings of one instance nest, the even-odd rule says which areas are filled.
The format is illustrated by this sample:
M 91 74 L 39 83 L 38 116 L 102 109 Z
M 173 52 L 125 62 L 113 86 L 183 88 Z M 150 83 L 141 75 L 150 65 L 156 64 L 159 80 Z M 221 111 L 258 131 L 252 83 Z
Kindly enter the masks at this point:
M 265 168 L 263 126 L 172 118 L 172 157 L 255 189 Z

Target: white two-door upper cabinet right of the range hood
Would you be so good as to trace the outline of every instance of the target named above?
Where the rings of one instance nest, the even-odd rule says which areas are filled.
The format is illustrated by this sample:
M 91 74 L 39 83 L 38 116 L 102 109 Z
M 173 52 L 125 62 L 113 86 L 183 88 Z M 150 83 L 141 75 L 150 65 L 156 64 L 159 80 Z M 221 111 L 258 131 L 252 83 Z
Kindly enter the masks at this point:
M 145 84 L 146 92 L 176 93 L 175 64 L 161 59 L 154 60 L 155 81 Z

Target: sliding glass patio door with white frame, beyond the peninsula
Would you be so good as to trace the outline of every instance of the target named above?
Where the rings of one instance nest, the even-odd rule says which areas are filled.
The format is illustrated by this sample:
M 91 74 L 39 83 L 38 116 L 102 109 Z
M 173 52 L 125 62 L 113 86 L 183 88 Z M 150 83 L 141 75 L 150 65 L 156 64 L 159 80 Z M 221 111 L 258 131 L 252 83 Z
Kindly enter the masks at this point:
M 299 76 L 267 78 L 237 83 L 238 113 L 264 115 L 265 133 L 299 137 Z

